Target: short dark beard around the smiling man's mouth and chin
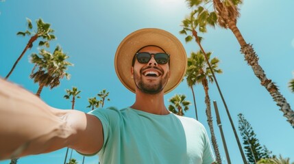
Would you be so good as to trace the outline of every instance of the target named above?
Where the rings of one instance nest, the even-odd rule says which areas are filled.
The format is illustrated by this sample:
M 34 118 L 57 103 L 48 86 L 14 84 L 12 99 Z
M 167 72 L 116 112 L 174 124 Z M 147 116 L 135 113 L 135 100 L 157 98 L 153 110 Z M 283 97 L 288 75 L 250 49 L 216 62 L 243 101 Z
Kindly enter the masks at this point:
M 141 71 L 142 72 L 142 71 Z M 169 79 L 168 74 L 166 74 L 163 79 L 160 79 L 160 81 L 157 84 L 149 84 L 143 82 L 143 74 L 140 73 L 140 77 L 138 76 L 138 73 L 134 71 L 134 81 L 136 84 L 136 87 L 146 93 L 146 94 L 158 94 L 160 93 L 165 85 L 167 84 L 167 80 Z

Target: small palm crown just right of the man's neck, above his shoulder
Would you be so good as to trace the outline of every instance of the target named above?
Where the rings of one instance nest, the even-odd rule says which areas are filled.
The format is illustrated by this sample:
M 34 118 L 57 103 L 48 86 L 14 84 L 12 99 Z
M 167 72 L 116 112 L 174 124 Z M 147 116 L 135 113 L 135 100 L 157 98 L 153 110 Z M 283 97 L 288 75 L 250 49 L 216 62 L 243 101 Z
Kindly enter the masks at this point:
M 169 102 L 171 102 L 169 111 L 180 116 L 184 115 L 184 111 L 188 111 L 189 109 L 188 105 L 191 105 L 191 102 L 185 99 L 186 96 L 184 94 L 175 94 L 175 96 L 169 99 Z

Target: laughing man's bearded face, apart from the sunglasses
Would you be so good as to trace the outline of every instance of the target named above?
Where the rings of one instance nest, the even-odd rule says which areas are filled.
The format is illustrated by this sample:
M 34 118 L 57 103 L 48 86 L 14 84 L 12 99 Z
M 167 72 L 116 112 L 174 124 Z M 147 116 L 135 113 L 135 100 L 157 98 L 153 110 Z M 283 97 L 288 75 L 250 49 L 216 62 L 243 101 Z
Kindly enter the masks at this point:
M 162 49 L 157 46 L 146 46 L 138 53 L 164 53 Z M 140 64 L 135 59 L 134 67 L 132 67 L 132 75 L 136 83 L 136 90 L 140 90 L 147 94 L 158 94 L 169 79 L 169 64 L 158 64 L 154 59 L 154 55 L 151 55 L 151 59 L 147 64 Z

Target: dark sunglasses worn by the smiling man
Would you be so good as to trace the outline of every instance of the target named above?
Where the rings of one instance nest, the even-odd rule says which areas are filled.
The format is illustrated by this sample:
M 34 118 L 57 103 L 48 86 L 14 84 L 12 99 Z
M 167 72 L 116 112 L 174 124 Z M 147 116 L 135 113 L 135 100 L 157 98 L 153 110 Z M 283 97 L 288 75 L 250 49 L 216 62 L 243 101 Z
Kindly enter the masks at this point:
M 158 64 L 167 64 L 169 61 L 169 54 L 167 53 L 136 53 L 136 58 L 140 64 L 147 64 L 151 55 L 154 55 L 154 59 Z

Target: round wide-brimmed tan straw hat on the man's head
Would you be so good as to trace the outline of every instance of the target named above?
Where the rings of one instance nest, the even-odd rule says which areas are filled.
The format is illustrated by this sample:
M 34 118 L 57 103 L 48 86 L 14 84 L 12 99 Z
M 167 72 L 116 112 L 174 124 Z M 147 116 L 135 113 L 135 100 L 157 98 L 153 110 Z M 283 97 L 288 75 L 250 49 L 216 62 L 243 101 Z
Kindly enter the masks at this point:
M 115 53 L 114 66 L 117 77 L 127 89 L 135 93 L 136 85 L 131 74 L 132 59 L 140 48 L 148 45 L 160 46 L 170 55 L 171 76 L 164 87 L 164 94 L 167 94 L 182 81 L 186 71 L 187 57 L 180 40 L 162 29 L 139 29 L 125 37 Z

